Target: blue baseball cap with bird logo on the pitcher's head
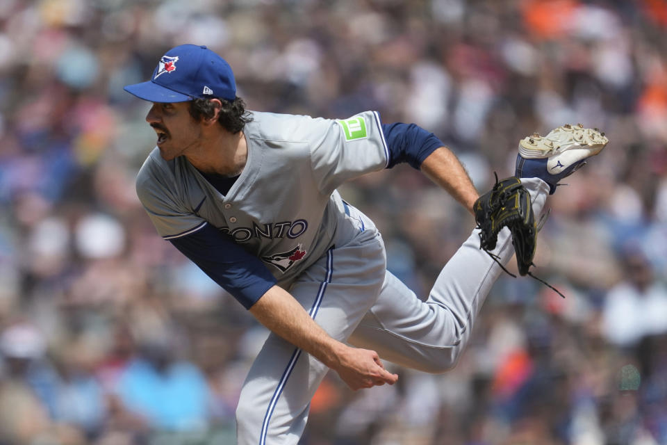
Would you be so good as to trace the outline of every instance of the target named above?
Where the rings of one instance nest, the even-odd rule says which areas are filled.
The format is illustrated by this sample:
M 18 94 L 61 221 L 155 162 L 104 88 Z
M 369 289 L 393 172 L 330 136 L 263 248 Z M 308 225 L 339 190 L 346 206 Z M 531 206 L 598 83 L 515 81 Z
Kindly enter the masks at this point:
M 151 80 L 128 85 L 124 90 L 150 102 L 187 102 L 195 97 L 236 99 L 229 63 L 196 44 L 170 49 L 160 58 Z

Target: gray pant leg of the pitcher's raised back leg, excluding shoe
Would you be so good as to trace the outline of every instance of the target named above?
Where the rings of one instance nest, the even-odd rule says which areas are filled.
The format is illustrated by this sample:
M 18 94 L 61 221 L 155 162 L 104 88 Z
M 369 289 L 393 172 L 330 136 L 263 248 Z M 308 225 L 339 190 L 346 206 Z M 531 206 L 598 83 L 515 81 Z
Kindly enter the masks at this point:
M 549 186 L 541 179 L 525 179 L 522 184 L 538 214 Z M 506 227 L 492 253 L 507 264 L 513 252 Z M 377 350 L 390 362 L 443 373 L 454 366 L 466 346 L 479 309 L 500 273 L 502 268 L 479 249 L 479 229 L 475 229 L 440 271 L 426 301 L 388 272 L 377 302 L 349 343 Z

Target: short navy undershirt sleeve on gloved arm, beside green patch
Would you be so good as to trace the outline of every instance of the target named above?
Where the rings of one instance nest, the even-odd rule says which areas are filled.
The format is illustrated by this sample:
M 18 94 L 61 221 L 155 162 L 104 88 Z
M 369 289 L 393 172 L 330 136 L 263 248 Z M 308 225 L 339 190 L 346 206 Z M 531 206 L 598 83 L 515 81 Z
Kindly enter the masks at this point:
M 412 168 L 419 170 L 429 154 L 445 145 L 433 133 L 429 133 L 416 124 L 402 122 L 382 124 L 382 132 L 389 149 L 387 168 L 392 168 L 397 163 L 407 162 Z

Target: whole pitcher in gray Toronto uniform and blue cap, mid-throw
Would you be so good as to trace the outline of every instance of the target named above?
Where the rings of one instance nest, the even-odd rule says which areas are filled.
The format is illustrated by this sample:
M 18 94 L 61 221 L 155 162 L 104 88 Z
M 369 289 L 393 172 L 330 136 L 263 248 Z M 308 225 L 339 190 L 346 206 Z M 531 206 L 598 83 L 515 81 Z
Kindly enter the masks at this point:
M 272 332 L 240 395 L 244 445 L 297 444 L 329 369 L 352 389 L 397 381 L 380 358 L 451 369 L 512 243 L 523 275 L 533 214 L 607 144 L 598 131 L 570 125 L 525 138 L 516 177 L 480 198 L 456 156 L 414 124 L 384 124 L 373 111 L 341 120 L 247 111 L 231 67 L 206 47 L 167 51 L 149 81 L 125 90 L 152 102 L 146 120 L 157 146 L 137 193 L 158 233 Z M 423 300 L 386 270 L 381 234 L 336 191 L 402 162 L 479 226 Z

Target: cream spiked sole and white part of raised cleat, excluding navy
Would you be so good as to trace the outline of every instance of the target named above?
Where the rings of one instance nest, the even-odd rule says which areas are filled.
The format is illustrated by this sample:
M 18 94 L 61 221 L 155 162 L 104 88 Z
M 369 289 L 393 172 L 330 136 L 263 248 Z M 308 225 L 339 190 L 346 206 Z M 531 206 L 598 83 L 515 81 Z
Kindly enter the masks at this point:
M 534 133 L 519 142 L 519 154 L 525 159 L 547 160 L 547 172 L 559 175 L 570 165 L 595 156 L 609 143 L 598 129 L 584 128 L 582 124 L 565 124 L 546 136 Z

